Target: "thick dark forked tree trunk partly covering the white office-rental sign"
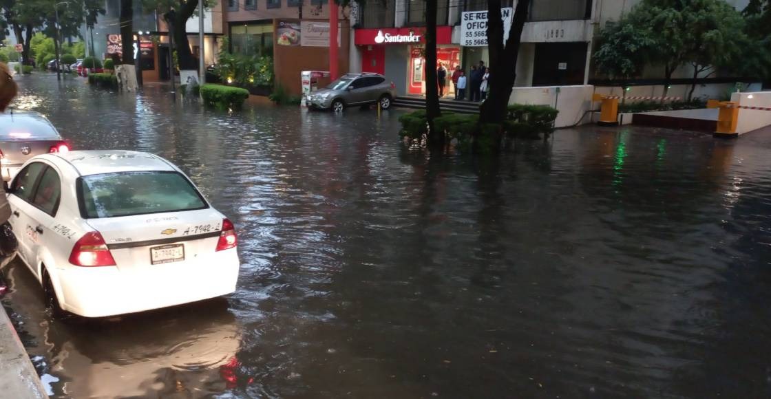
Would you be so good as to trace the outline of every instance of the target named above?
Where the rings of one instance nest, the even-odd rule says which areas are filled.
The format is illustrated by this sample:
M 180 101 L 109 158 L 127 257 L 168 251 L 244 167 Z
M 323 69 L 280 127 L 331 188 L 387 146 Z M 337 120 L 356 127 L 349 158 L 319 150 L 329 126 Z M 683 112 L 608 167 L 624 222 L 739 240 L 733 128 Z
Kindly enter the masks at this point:
M 517 55 L 528 8 L 530 0 L 517 2 L 509 37 L 504 45 L 500 0 L 487 2 L 487 48 L 490 51 L 491 72 L 487 82 L 487 99 L 480 109 L 480 123 L 500 123 L 506 119 L 511 91 L 517 79 Z

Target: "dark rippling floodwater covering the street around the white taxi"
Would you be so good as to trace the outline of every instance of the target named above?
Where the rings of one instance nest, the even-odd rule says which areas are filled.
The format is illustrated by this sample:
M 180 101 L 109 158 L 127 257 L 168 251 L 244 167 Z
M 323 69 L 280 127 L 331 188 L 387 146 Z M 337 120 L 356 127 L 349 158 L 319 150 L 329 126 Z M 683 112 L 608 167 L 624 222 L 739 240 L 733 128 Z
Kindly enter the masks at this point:
M 771 131 L 432 159 L 399 111 L 19 81 L 74 148 L 177 163 L 241 239 L 236 293 L 110 320 L 52 320 L 12 263 L 3 304 L 55 397 L 771 396 Z

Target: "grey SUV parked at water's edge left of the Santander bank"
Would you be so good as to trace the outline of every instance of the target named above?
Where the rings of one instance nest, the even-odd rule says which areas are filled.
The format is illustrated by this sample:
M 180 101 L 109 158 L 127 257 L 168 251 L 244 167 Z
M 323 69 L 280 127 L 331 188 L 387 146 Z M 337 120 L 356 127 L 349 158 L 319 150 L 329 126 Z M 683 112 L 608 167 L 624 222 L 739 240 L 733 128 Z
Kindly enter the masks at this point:
M 305 105 L 315 109 L 333 109 L 342 112 L 347 106 L 368 106 L 380 104 L 389 109 L 396 96 L 393 82 L 386 82 L 385 76 L 377 73 L 348 73 L 342 75 L 324 89 L 312 92 Z

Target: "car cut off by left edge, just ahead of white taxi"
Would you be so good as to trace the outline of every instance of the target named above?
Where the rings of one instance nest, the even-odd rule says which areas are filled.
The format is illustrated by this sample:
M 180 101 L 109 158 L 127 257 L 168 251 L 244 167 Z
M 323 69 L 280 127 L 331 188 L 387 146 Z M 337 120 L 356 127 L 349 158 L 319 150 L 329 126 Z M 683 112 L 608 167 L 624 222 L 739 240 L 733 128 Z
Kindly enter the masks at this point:
M 0 169 L 2 179 L 12 179 L 33 156 L 66 153 L 67 144 L 45 116 L 34 111 L 0 113 Z

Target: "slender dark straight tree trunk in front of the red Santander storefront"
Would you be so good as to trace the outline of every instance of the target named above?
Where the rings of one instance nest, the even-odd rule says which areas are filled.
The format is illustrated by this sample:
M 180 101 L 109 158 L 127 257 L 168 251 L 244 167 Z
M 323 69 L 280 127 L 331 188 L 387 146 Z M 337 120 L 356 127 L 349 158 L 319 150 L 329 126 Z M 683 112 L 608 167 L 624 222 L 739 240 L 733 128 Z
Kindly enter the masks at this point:
M 444 144 L 444 132 L 434 129 L 433 119 L 439 109 L 439 82 L 436 77 L 436 0 L 426 0 L 426 119 L 429 123 L 429 143 L 434 148 Z

